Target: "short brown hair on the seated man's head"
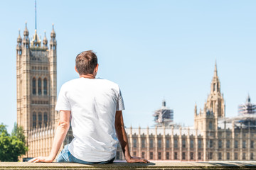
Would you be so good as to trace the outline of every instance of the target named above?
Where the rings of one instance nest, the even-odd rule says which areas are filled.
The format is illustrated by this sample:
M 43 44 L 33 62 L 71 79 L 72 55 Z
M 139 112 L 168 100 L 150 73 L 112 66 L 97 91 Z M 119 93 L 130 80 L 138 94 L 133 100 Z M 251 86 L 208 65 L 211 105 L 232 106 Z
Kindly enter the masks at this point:
M 97 55 L 92 50 L 81 52 L 75 58 L 75 67 L 80 75 L 93 74 L 97 66 Z

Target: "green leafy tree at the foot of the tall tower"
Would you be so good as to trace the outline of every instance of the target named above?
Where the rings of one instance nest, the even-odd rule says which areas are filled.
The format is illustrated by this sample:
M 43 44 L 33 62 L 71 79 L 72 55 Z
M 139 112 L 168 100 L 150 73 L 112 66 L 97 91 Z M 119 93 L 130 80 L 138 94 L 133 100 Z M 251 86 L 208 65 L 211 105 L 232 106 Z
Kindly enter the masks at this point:
M 18 162 L 18 157 L 26 154 L 25 136 L 23 128 L 14 125 L 14 130 L 11 136 L 6 130 L 6 125 L 0 125 L 0 161 L 1 162 Z

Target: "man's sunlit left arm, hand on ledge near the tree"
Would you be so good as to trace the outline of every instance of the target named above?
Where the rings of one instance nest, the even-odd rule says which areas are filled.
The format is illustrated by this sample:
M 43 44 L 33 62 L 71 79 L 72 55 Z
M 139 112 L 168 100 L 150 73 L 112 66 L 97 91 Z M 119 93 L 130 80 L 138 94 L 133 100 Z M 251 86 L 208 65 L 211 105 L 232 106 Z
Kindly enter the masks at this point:
M 50 155 L 48 157 L 36 157 L 28 162 L 53 162 L 70 127 L 70 113 L 71 111 L 60 111 L 60 120 L 54 135 L 53 147 L 50 151 Z

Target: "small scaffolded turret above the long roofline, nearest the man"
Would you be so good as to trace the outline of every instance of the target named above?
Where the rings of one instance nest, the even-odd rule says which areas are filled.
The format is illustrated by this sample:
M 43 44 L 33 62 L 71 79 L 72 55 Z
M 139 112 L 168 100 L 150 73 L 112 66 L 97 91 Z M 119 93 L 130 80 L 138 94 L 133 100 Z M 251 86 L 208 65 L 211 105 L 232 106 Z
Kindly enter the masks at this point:
M 166 101 L 162 102 L 160 109 L 154 111 L 154 122 L 157 126 L 169 126 L 174 122 L 174 110 L 166 107 Z

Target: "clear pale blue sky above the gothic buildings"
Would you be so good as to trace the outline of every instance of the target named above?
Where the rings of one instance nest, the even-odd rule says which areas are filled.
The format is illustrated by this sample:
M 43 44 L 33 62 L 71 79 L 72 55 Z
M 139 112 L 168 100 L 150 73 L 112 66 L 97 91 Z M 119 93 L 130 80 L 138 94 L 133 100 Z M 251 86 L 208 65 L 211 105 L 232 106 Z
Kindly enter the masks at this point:
M 226 115 L 250 93 L 256 101 L 256 1 L 49 1 L 38 0 L 38 33 L 48 40 L 55 24 L 58 91 L 78 75 L 75 56 L 94 50 L 98 77 L 122 89 L 129 127 L 154 125 L 163 98 L 174 121 L 193 125 L 195 102 L 203 108 L 215 60 Z M 34 33 L 34 1 L 1 1 L 0 123 L 16 121 L 16 38 L 28 22 Z

